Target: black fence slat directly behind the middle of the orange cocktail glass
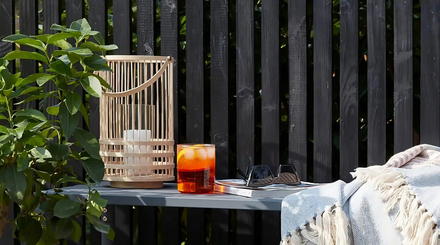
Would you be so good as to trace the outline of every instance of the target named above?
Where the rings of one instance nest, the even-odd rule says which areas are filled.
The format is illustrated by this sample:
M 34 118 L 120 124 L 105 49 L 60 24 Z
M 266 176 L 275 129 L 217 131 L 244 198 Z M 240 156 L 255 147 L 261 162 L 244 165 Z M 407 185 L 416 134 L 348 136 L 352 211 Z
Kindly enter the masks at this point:
M 186 3 L 187 14 L 187 142 L 203 143 L 203 1 Z M 187 241 L 205 244 L 205 210 L 188 208 Z

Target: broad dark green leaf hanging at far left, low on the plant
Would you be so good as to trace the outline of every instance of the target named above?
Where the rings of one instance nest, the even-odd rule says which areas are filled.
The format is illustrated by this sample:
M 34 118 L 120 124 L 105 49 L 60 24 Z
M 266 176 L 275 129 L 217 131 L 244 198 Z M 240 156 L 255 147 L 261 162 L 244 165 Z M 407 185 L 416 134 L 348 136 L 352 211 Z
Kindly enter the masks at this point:
M 6 169 L 4 183 L 11 199 L 21 204 L 27 187 L 26 175 L 18 172 L 14 165 L 10 165 Z

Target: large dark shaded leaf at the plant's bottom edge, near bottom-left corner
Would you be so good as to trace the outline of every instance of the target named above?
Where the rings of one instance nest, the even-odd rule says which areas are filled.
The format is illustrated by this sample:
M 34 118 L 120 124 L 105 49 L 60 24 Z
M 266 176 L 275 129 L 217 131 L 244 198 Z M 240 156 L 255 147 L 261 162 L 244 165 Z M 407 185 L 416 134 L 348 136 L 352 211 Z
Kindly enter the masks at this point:
M 26 215 L 18 219 L 18 240 L 26 245 L 36 245 L 43 234 L 40 222 Z

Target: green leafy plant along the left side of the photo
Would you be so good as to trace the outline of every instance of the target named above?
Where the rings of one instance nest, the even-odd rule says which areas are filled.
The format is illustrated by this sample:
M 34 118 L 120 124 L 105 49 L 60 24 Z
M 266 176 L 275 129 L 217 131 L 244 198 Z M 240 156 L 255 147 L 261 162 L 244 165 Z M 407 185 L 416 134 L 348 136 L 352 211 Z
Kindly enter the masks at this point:
M 107 201 L 92 188 L 104 177 L 99 143 L 87 130 L 77 127 L 80 114 L 88 125 L 88 112 L 75 90 L 82 87 L 91 96 L 99 97 L 104 87 L 109 87 L 94 72 L 111 70 L 105 59 L 93 52 L 105 55 L 117 46 L 104 45 L 101 34 L 92 31 L 85 19 L 73 22 L 70 28 L 54 24 L 51 29 L 60 32 L 15 34 L 3 39 L 38 52 L 16 50 L 0 58 L 0 124 L 4 125 L 0 126 L 0 237 L 7 223 L 11 223 L 14 237 L 27 245 L 55 245 L 69 237 L 79 241 L 85 234 L 81 234 L 75 218 L 86 216 L 97 231 L 113 240 L 114 231 L 99 218 Z M 89 41 L 91 36 L 97 43 Z M 49 45 L 60 49 L 48 54 Z M 20 73 L 11 74 L 7 68 L 9 61 L 16 59 L 36 60 L 48 69 L 20 78 Z M 45 83 L 55 83 L 56 90 L 44 92 Z M 35 109 L 19 109 L 29 101 L 49 97 L 59 100 L 46 108 L 54 120 Z M 78 152 L 78 148 L 84 150 Z M 81 162 L 87 172 L 84 181 L 73 172 L 72 161 Z M 70 182 L 87 185 L 88 198 L 70 200 L 63 195 L 60 188 Z M 44 191 L 47 184 L 53 186 L 54 192 Z M 13 203 L 19 205 L 20 212 L 9 220 Z

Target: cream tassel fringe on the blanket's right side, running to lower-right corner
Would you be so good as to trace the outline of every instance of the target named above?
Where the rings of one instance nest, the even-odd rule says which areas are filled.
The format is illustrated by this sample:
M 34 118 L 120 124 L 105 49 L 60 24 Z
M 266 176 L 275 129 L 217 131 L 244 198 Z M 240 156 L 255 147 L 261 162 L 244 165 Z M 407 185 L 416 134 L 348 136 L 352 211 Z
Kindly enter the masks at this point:
M 358 168 L 352 175 L 380 192 L 388 213 L 398 207 L 392 222 L 403 236 L 403 245 L 440 245 L 436 220 L 421 204 L 403 173 L 385 166 L 370 166 Z

